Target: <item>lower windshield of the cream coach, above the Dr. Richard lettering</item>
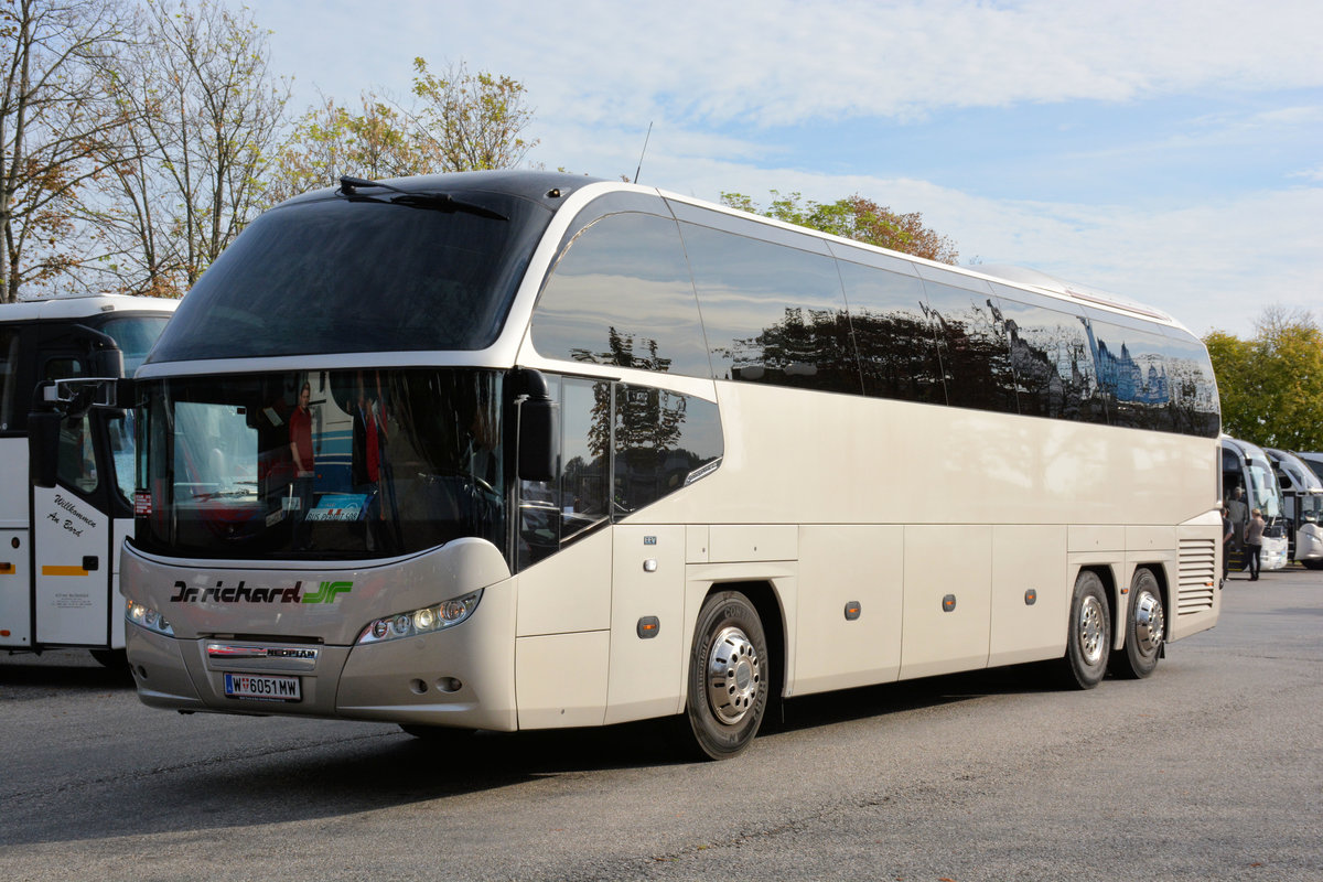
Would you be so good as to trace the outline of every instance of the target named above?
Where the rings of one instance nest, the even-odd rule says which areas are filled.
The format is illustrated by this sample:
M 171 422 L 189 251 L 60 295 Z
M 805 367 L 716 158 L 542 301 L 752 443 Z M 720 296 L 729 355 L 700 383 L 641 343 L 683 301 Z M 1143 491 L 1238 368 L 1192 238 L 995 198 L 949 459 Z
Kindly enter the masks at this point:
M 146 382 L 136 541 L 208 558 L 500 547 L 500 383 L 474 369 Z

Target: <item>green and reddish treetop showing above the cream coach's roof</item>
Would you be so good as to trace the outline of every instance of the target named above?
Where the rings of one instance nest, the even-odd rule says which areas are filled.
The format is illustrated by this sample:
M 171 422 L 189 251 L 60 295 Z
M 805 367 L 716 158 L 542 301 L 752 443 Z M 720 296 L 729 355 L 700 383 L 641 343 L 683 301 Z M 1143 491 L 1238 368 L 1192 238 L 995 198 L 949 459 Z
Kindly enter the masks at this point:
M 859 193 L 835 202 L 804 201 L 799 193 L 783 197 L 779 190 L 771 190 L 771 204 L 766 209 L 744 193 L 722 193 L 721 201 L 742 212 L 929 261 L 954 264 L 959 258 L 955 243 L 949 237 L 923 226 L 923 216 L 918 212 L 897 214 Z

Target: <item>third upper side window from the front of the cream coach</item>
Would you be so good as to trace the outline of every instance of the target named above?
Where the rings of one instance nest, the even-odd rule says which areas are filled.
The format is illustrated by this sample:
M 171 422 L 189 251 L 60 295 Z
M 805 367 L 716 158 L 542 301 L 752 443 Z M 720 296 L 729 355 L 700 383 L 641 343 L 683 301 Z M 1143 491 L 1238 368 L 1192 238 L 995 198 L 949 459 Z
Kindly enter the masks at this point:
M 933 327 L 918 276 L 837 263 L 855 331 L 864 394 L 946 403 Z

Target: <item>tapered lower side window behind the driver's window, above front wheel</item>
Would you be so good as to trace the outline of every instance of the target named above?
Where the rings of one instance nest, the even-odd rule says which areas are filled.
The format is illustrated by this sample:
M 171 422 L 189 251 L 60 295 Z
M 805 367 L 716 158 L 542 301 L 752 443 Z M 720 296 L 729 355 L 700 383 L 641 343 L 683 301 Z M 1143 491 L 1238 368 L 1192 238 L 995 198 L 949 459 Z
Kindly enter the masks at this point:
M 618 385 L 615 407 L 617 517 L 692 484 L 721 459 L 721 419 L 712 402 Z

